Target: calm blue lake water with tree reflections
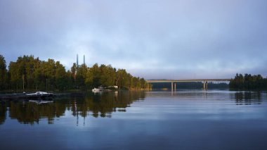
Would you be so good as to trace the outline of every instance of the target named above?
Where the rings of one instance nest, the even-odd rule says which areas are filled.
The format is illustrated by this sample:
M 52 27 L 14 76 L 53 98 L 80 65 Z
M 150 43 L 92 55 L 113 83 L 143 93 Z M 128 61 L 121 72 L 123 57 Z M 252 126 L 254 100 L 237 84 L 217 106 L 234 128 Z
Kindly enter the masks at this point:
M 0 149 L 267 149 L 267 93 L 110 92 L 0 104 Z

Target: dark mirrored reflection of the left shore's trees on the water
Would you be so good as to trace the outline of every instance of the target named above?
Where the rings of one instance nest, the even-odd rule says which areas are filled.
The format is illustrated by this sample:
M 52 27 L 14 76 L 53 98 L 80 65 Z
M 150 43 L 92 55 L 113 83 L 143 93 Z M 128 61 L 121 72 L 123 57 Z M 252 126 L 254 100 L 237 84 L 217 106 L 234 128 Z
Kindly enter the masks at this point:
M 48 124 L 53 124 L 55 118 L 70 111 L 73 116 L 85 118 L 91 115 L 112 117 L 112 112 L 125 112 L 133 101 L 145 99 L 145 92 L 107 92 L 103 94 L 86 94 L 85 96 L 55 99 L 52 103 L 46 101 L 1 101 L 0 124 L 6 120 L 7 112 L 11 119 L 19 123 L 34 124 L 47 118 Z M 77 119 L 78 120 L 78 119 Z

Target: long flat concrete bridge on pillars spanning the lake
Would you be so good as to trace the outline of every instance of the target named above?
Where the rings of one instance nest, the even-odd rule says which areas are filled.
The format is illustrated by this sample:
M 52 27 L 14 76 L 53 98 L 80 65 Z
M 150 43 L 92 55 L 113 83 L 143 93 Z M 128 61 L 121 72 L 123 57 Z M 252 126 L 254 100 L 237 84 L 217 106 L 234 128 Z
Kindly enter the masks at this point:
M 208 89 L 208 82 L 230 82 L 233 79 L 181 79 L 181 80 L 145 80 L 148 83 L 170 82 L 171 91 L 176 91 L 176 82 L 203 82 L 203 89 Z

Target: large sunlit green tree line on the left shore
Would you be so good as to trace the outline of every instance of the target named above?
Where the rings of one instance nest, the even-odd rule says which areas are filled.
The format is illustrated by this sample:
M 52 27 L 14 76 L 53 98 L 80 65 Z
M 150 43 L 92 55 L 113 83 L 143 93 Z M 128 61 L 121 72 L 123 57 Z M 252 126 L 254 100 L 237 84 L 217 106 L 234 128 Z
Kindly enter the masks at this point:
M 49 58 L 41 61 L 34 56 L 20 56 L 9 63 L 8 69 L 4 56 L 0 55 L 0 90 L 67 90 L 91 89 L 93 87 L 114 87 L 119 89 L 147 89 L 150 85 L 143 78 L 133 77 L 124 69 L 111 65 L 94 64 L 91 68 L 85 64 L 73 63 L 66 70 L 60 61 Z

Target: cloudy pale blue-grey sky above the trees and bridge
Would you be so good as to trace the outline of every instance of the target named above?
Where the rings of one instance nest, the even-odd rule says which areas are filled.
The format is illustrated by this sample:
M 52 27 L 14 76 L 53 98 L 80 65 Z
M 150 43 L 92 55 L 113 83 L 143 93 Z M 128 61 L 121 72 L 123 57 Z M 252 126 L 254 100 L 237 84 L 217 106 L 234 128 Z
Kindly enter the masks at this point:
M 267 75 L 266 0 L 1 0 L 0 54 L 145 79 Z

